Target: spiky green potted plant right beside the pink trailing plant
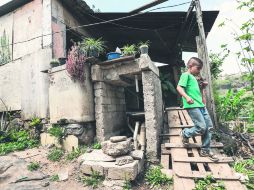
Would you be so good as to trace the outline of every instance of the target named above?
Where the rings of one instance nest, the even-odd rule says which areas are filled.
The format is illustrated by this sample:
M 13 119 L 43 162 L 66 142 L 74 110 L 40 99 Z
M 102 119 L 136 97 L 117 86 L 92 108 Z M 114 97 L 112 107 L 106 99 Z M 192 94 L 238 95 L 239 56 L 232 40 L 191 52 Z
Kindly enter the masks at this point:
M 81 42 L 81 49 L 86 52 L 88 57 L 99 57 L 99 54 L 105 51 L 105 42 L 95 38 L 85 38 Z

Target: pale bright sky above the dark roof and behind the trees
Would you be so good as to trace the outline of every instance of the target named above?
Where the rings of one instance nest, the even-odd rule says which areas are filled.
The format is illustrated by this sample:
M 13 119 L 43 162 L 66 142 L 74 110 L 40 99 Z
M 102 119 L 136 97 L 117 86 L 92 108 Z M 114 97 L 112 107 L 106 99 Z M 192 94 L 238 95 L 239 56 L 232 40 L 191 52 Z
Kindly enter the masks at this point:
M 86 0 L 87 4 L 92 7 L 95 6 L 96 9 L 100 9 L 101 12 L 129 12 L 137 7 L 151 2 L 152 0 Z M 175 5 L 180 3 L 185 3 L 190 0 L 169 0 L 156 7 L 163 7 L 169 5 Z M 236 51 L 239 49 L 238 44 L 233 40 L 233 30 L 237 30 L 240 23 L 243 23 L 248 18 L 250 18 L 250 13 L 244 10 L 237 10 L 236 0 L 200 0 L 202 10 L 219 10 L 220 13 L 213 25 L 211 32 L 207 37 L 207 47 L 209 52 L 219 53 L 221 51 L 220 46 L 222 44 L 228 44 L 228 48 Z M 153 8 L 156 8 L 153 7 Z M 189 4 L 178 6 L 175 8 L 161 9 L 159 11 L 187 11 Z M 149 9 L 148 9 L 149 10 Z M 253 15 L 252 15 L 253 16 Z M 229 20 L 232 21 L 229 21 Z M 226 21 L 225 27 L 218 27 L 220 23 Z M 238 25 L 238 26 L 236 26 Z M 197 56 L 196 53 L 184 53 L 183 59 L 185 62 L 192 56 Z M 237 64 L 236 56 L 229 56 L 223 66 L 222 74 L 234 74 L 244 71 L 243 68 L 239 68 Z

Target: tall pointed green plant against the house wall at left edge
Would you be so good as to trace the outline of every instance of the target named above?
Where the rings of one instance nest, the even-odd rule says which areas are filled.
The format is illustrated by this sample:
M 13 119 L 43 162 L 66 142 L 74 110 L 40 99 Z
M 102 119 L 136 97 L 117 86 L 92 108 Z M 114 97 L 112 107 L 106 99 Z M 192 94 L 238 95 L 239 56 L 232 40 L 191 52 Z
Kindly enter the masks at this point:
M 0 65 L 4 65 L 11 61 L 11 51 L 9 39 L 4 30 L 3 35 L 0 36 Z

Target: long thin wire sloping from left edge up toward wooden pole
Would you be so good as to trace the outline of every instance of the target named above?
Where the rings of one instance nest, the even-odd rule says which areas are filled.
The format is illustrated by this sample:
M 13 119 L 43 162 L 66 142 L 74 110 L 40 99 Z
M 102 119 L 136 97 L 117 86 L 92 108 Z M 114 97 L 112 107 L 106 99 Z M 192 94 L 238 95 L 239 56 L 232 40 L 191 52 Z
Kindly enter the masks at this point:
M 8 44 L 8 45 L 3 45 L 3 46 L 0 46 L 0 47 L 3 48 L 3 47 L 11 46 L 11 45 L 22 44 L 22 43 L 26 43 L 26 42 L 30 42 L 32 40 L 35 40 L 37 38 L 42 38 L 42 37 L 45 37 L 45 36 L 51 36 L 51 35 L 54 35 L 54 34 L 66 32 L 68 30 L 73 30 L 73 29 L 78 29 L 78 28 L 83 28 L 83 27 L 91 27 L 91 26 L 96 26 L 96 25 L 106 24 L 106 23 L 112 23 L 114 21 L 124 20 L 124 19 L 135 17 L 135 16 L 138 16 L 138 15 L 146 14 L 148 12 L 155 11 L 155 10 L 160 10 L 160 9 L 172 8 L 172 7 L 177 7 L 177 6 L 185 5 L 185 4 L 190 3 L 190 2 L 191 1 L 180 3 L 180 4 L 176 4 L 176 5 L 158 7 L 158 8 L 154 8 L 154 9 L 151 9 L 151 10 L 148 10 L 148 11 L 145 11 L 145 12 L 140 12 L 140 13 L 128 15 L 128 16 L 125 16 L 125 17 L 120 17 L 120 18 L 116 18 L 116 19 L 105 20 L 105 21 L 102 21 L 102 22 L 91 23 L 91 24 L 84 24 L 84 25 L 79 25 L 79 26 L 75 26 L 75 27 L 70 27 L 70 28 L 65 29 L 65 30 L 61 30 L 61 31 L 58 31 L 58 32 L 51 32 L 49 34 L 42 34 L 40 36 L 36 36 L 36 37 L 30 38 L 28 40 L 23 40 L 23 41 L 15 42 L 15 43 L 11 43 L 11 44 Z

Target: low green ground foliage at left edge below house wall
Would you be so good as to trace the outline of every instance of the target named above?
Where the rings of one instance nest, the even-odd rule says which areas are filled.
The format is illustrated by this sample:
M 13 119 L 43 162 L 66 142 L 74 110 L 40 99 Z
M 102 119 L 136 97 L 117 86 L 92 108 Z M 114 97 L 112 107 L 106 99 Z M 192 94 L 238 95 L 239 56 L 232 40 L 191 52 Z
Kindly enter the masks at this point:
M 0 155 L 5 155 L 16 150 L 33 148 L 38 143 L 38 140 L 31 138 L 27 131 L 13 129 L 0 134 Z

